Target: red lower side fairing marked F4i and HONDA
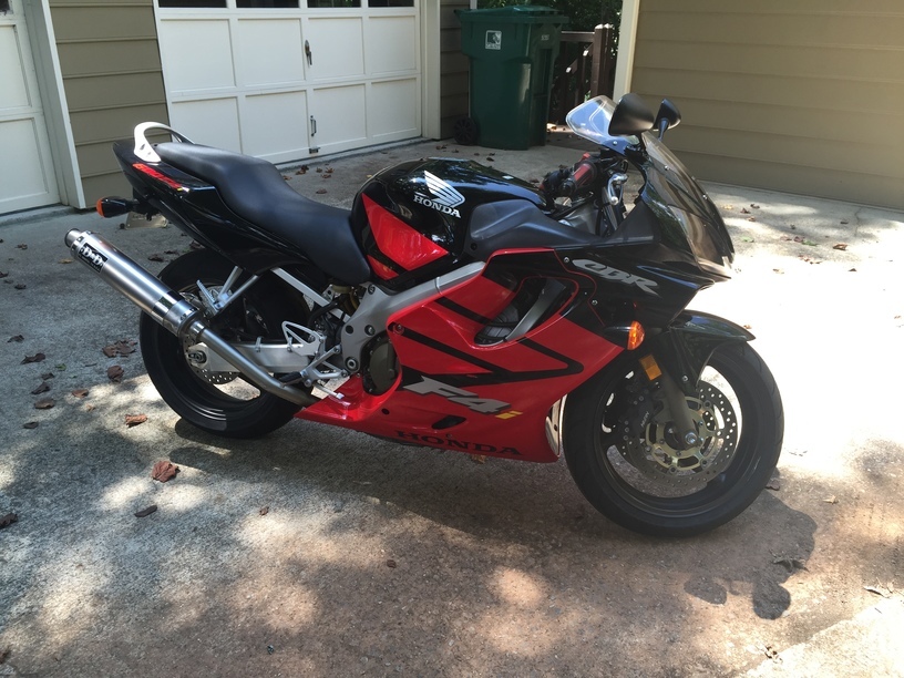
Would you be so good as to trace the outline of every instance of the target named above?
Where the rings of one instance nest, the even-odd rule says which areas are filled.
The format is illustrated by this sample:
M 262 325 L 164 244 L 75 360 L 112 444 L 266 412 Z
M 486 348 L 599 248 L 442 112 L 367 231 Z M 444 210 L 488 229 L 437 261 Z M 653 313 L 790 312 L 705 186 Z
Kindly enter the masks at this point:
M 578 286 L 551 251 L 507 253 L 491 264 L 537 257 L 556 265 L 574 292 Z M 523 267 L 523 265 L 522 265 Z M 487 269 L 490 265 L 487 265 Z M 386 393 L 372 396 L 360 376 L 298 413 L 300 419 L 341 425 L 414 444 L 524 461 L 557 459 L 547 442 L 546 417 L 563 396 L 610 362 L 623 349 L 554 314 L 526 336 L 481 346 L 475 337 L 517 290 L 485 274 L 389 318 L 389 337 L 401 374 Z M 581 301 L 583 304 L 583 301 Z

